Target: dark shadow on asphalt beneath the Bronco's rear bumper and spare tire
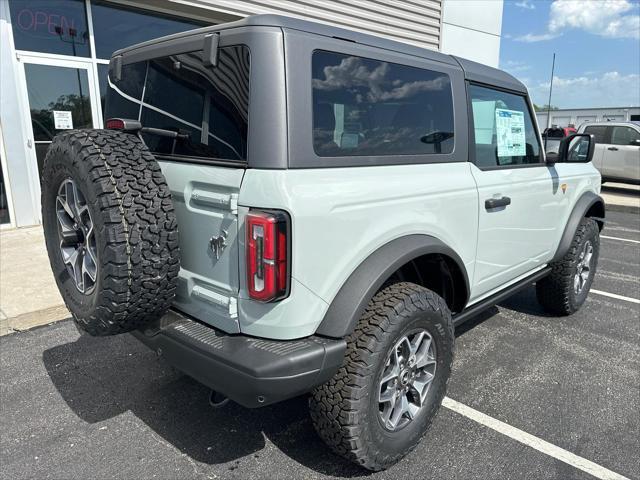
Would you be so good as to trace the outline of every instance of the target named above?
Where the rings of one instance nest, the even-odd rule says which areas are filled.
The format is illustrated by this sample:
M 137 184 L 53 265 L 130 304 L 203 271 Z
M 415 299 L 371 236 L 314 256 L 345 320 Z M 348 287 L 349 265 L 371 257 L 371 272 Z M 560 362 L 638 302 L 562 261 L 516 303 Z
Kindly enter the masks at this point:
M 318 438 L 299 397 L 260 409 L 229 402 L 209 406 L 209 390 L 170 367 L 130 335 L 94 338 L 43 353 L 58 392 L 83 421 L 103 422 L 127 411 L 181 453 L 206 464 L 257 458 L 268 438 L 285 455 L 325 475 L 366 476 L 368 472 L 334 455 Z

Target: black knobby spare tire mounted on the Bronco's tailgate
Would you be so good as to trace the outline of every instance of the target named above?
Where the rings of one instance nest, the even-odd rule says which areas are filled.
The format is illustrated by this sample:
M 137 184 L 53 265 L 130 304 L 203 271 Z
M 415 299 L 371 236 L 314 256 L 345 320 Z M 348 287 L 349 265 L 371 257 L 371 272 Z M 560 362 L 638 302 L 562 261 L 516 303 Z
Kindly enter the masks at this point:
M 91 291 L 79 289 L 75 271 L 63 260 L 58 220 L 65 214 L 58 200 L 63 183 L 79 191 L 94 230 L 97 262 L 91 265 L 97 272 L 92 270 Z M 42 219 L 56 283 L 82 330 L 124 333 L 167 311 L 180 270 L 178 224 L 160 166 L 137 136 L 113 130 L 56 136 L 42 172 Z

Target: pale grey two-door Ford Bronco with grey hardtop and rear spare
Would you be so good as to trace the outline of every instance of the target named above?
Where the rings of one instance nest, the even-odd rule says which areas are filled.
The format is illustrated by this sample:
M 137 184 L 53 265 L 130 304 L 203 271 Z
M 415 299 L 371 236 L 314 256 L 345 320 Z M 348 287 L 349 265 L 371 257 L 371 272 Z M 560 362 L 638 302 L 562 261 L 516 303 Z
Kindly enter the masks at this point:
M 105 130 L 56 137 L 42 206 L 80 329 L 260 407 L 310 393 L 371 470 L 445 395 L 454 328 L 535 283 L 570 315 L 605 207 L 589 135 L 545 157 L 526 88 L 462 58 L 262 15 L 116 52 Z

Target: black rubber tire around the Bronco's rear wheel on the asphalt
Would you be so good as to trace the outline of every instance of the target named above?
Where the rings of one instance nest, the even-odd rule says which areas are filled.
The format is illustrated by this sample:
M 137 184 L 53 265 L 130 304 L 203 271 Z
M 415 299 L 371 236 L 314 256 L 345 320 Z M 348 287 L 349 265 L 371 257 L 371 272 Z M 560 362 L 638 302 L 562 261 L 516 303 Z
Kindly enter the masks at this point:
M 436 370 L 426 402 L 404 428 L 388 430 L 378 394 L 386 360 L 396 342 L 426 329 L 436 345 Z M 444 300 L 413 283 L 379 291 L 347 338 L 342 367 L 309 401 L 320 437 L 337 454 L 369 470 L 383 470 L 413 450 L 444 398 L 453 361 L 454 328 Z

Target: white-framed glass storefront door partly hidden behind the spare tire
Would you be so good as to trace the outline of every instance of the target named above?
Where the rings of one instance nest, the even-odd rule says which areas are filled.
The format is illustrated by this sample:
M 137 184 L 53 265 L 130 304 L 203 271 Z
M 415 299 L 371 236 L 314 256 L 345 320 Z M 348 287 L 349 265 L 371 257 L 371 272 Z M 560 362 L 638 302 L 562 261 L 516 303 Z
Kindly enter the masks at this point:
M 20 62 L 29 105 L 31 160 L 40 174 L 55 135 L 64 130 L 100 127 L 99 95 L 89 62 L 31 56 L 21 56 Z

